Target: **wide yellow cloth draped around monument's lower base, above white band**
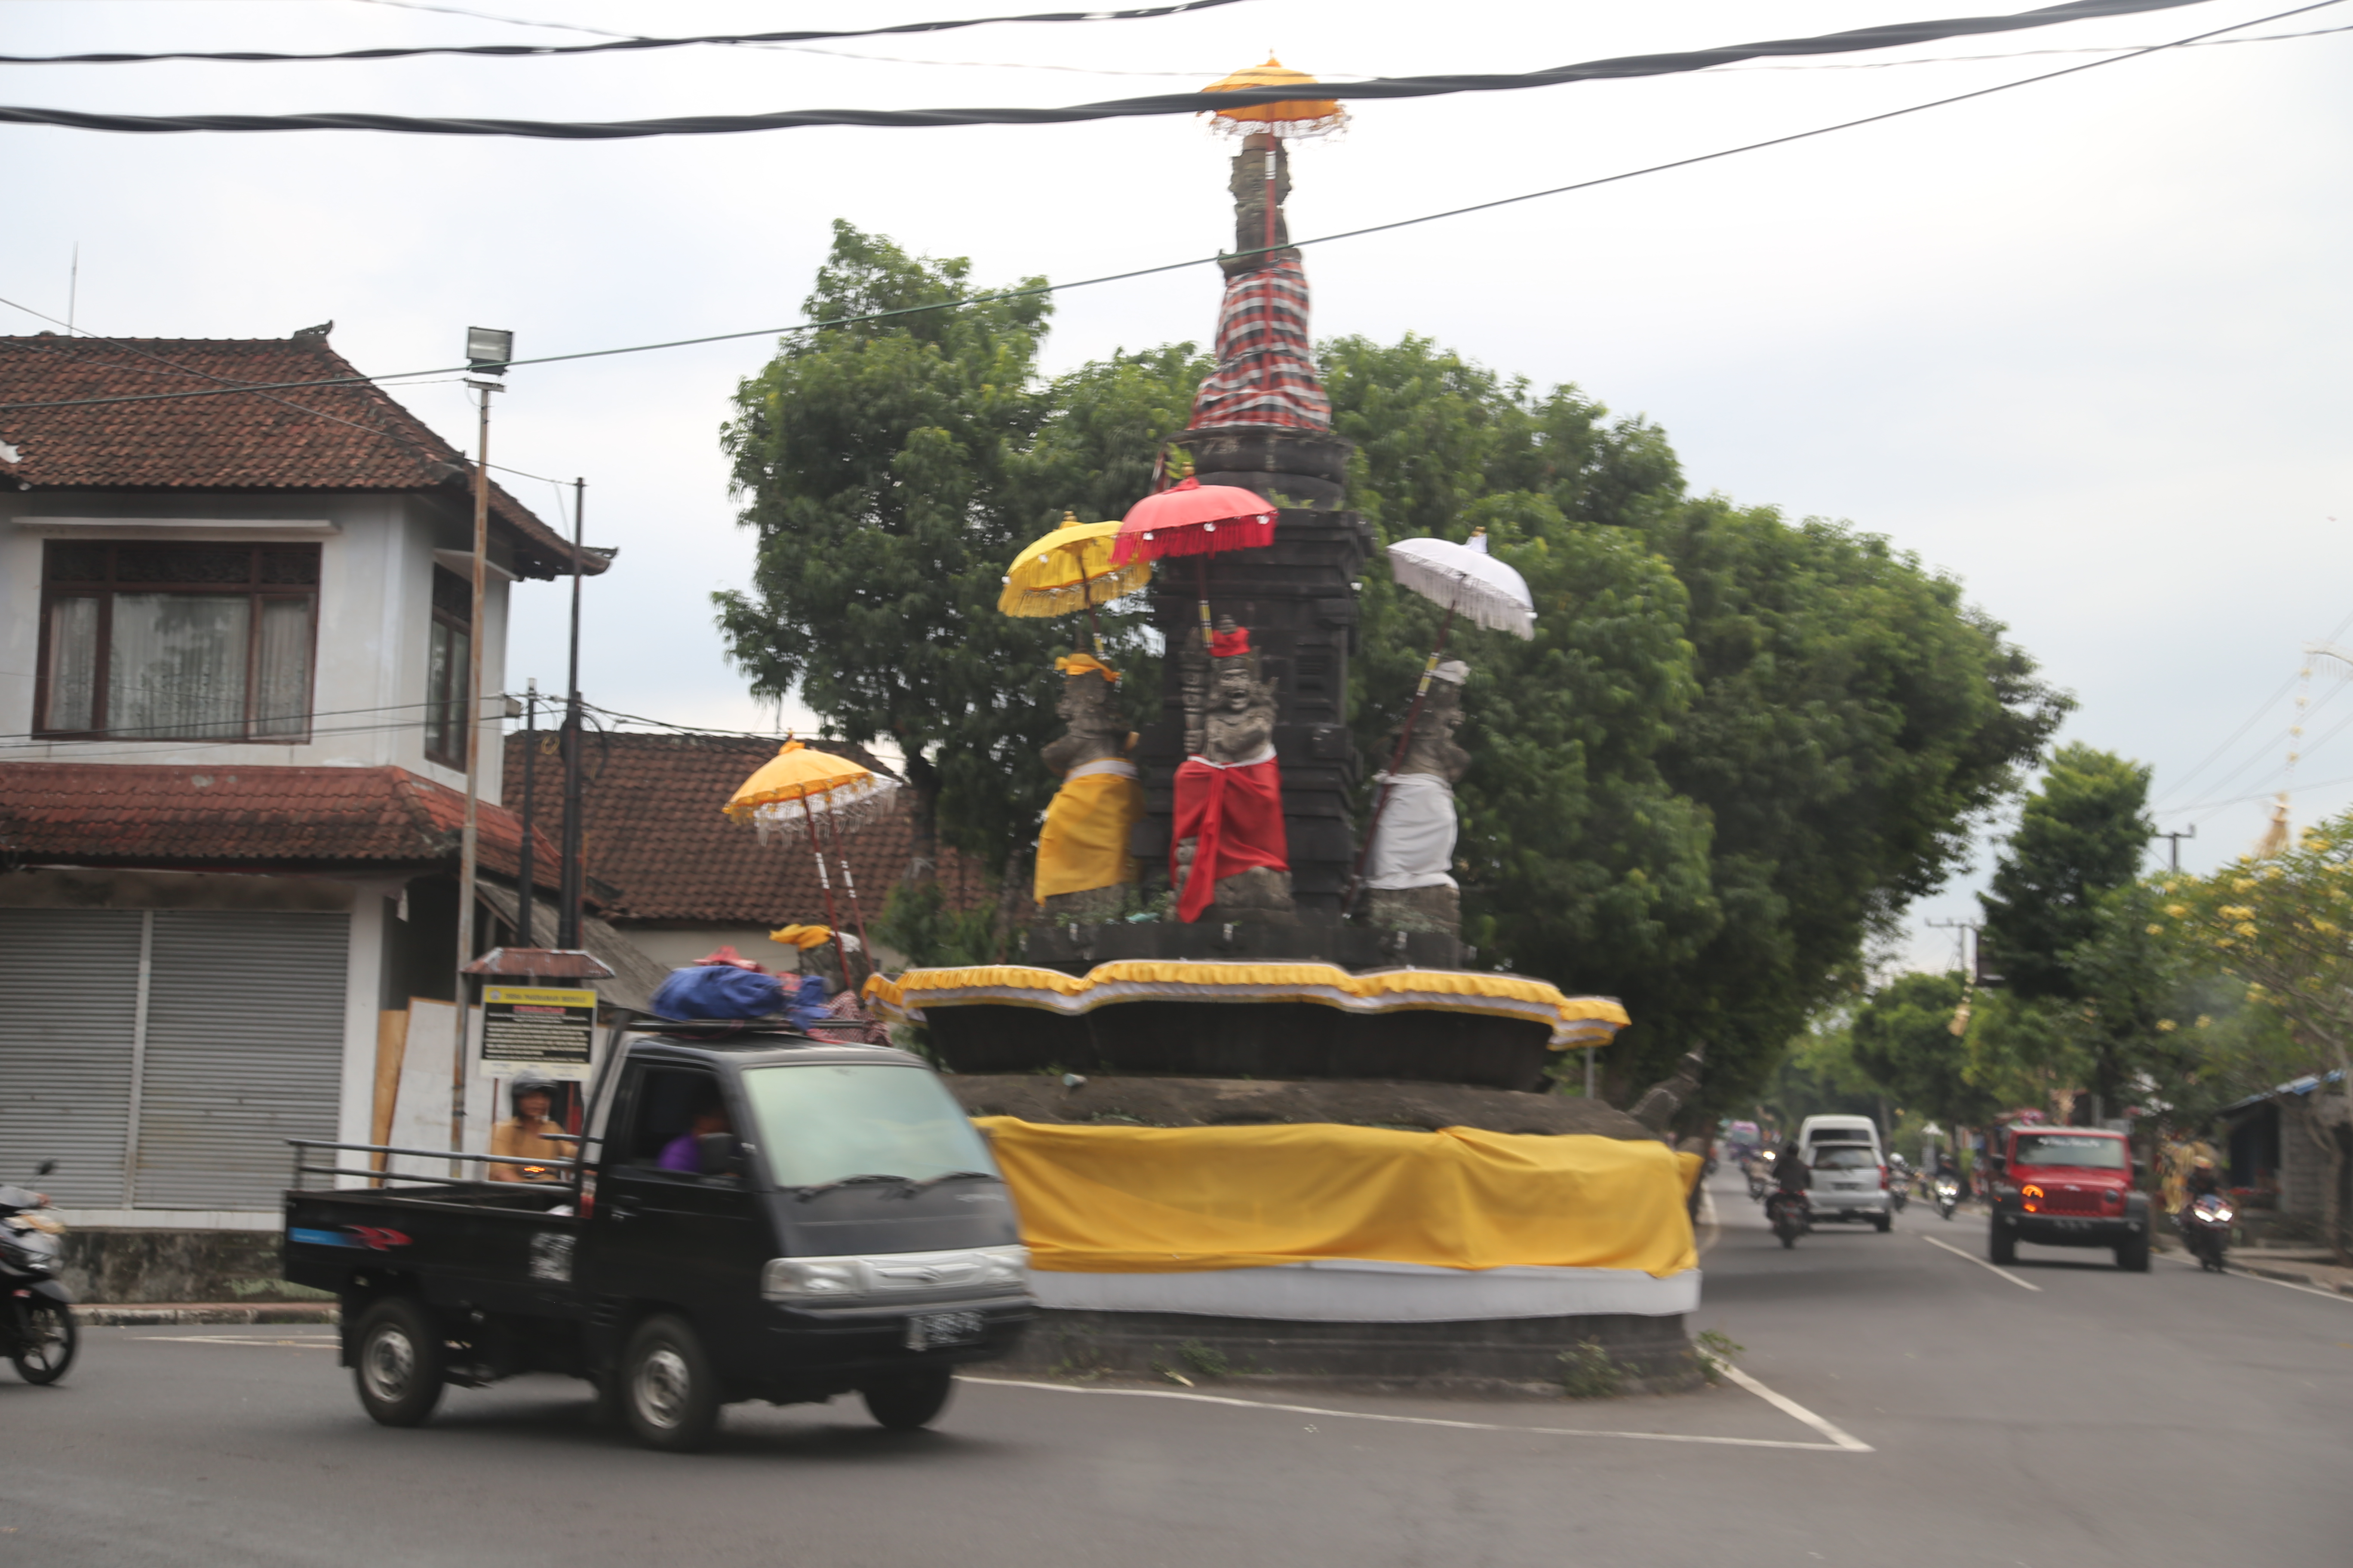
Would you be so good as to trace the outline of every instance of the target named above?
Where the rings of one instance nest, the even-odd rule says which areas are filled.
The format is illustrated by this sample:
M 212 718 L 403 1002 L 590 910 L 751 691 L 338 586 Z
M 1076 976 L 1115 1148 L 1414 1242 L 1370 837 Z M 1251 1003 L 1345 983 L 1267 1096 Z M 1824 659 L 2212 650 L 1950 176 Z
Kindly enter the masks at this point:
M 1318 1258 L 1454 1269 L 1699 1267 L 1664 1143 L 1374 1126 L 1049 1126 L 981 1117 L 1031 1265 L 1186 1274 Z

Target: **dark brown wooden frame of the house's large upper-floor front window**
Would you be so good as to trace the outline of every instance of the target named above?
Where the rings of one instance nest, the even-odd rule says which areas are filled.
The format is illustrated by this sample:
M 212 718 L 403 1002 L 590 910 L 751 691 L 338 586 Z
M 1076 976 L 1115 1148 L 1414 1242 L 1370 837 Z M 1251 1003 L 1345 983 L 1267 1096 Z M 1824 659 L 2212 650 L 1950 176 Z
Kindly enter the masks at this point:
M 106 576 L 99 581 L 61 583 L 56 581 L 54 559 L 64 548 L 104 550 L 106 552 Z M 160 583 L 151 578 L 125 578 L 120 574 L 120 562 L 125 550 L 245 550 L 245 583 Z M 264 555 L 299 555 L 311 562 L 308 583 L 266 583 L 261 571 Z M 35 741 L 153 741 L 160 745 L 308 745 L 311 743 L 311 719 L 315 715 L 318 701 L 318 609 L 320 609 L 320 548 L 318 545 L 289 545 L 289 543 L 245 543 L 228 538 L 49 538 L 42 541 L 40 552 L 40 651 L 33 663 L 33 738 Z M 115 595 L 120 592 L 188 592 L 207 597 L 231 597 L 245 595 L 252 602 L 252 614 L 245 625 L 245 719 L 242 733 L 224 736 L 165 736 L 165 733 L 141 733 L 122 736 L 113 733 L 108 726 L 113 715 L 106 710 L 108 682 L 113 677 L 113 635 L 115 635 Z M 96 646 L 92 649 L 92 675 L 89 675 L 89 717 L 92 729 L 52 729 L 49 724 L 49 698 L 52 698 L 52 651 L 54 635 L 49 630 L 49 616 L 59 599 L 96 599 L 99 602 L 99 625 L 94 630 Z M 311 637 L 308 637 L 308 663 L 304 668 L 304 708 L 301 708 L 301 731 L 285 736 L 256 736 L 254 703 L 261 693 L 261 607 L 271 599 L 308 599 L 311 604 Z

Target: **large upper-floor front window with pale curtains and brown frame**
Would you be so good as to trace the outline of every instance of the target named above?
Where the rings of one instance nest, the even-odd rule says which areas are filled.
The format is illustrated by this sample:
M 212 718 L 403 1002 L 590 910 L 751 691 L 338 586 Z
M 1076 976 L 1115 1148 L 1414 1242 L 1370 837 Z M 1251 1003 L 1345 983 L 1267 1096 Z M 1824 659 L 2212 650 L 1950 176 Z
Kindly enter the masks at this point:
M 38 729 L 306 741 L 318 545 L 52 541 Z

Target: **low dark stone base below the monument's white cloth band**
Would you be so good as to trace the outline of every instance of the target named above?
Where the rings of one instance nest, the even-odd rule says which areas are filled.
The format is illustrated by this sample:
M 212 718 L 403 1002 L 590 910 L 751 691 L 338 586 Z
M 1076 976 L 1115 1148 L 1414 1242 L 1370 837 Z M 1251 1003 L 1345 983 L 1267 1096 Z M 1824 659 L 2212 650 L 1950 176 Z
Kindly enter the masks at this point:
M 1191 1312 L 1049 1307 L 1014 1352 L 981 1368 L 1047 1378 L 1167 1378 L 1195 1387 L 1245 1382 L 1329 1392 L 1560 1396 L 1560 1354 L 1600 1345 L 1626 1368 L 1626 1394 L 1701 1385 L 1685 1319 L 1588 1316 L 1468 1324 L 1301 1324 Z

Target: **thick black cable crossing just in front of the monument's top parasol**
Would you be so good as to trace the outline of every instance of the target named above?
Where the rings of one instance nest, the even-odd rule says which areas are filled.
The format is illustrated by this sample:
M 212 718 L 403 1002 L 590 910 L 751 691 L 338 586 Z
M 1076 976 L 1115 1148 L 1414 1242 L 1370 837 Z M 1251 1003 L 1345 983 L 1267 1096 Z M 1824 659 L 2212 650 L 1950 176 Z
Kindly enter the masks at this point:
M 1562 87 L 1569 82 L 1628 80 L 1647 75 L 1675 75 L 1729 66 L 1734 61 L 1772 54 L 1847 54 L 1861 49 L 1889 49 L 1899 45 L 1934 42 L 1939 38 L 1965 38 L 1977 33 L 2014 33 L 2021 28 L 2047 28 L 2064 21 L 2087 21 L 2094 16 L 2127 16 L 2137 12 L 2165 12 L 2205 0 L 2066 0 L 2038 12 L 2014 16 L 1946 16 L 1939 21 L 1899 21 L 1878 28 L 1854 28 L 1849 33 L 1819 33 L 1812 38 L 1774 38 L 1751 45 L 1727 45 L 1718 49 L 1682 49 L 1671 54 L 1628 54 L 1619 59 L 1581 61 L 1553 66 L 1551 71 L 1525 71 L 1508 75 L 1398 75 L 1372 82 L 1320 82 L 1318 99 L 1433 99 L 1459 92 L 1520 92 L 1529 87 Z M 2238 33 L 2240 28 L 2322 9 L 2301 5 L 2278 16 L 2257 21 L 2233 21 L 2226 28 L 2198 33 Z M 2151 49 L 2172 49 L 2151 45 Z M 2139 54 L 2148 54 L 2141 49 Z M 2115 56 L 2132 59 L 2132 54 Z M 2111 61 L 2089 61 L 2101 66 Z M 2089 66 L 2073 66 L 2087 71 Z M 2057 73 L 2054 73 L 2057 75 Z M 675 115 L 666 120 L 478 120 L 438 115 L 365 115 L 365 113 L 313 113 L 313 115 L 106 115 L 71 108 L 0 108 L 0 122 L 14 125 L 61 125 L 94 132 L 402 132 L 416 136 L 541 136 L 558 141 L 609 141 L 628 136 L 725 136 L 736 132 L 779 132 L 809 125 L 856 125 L 856 127 L 967 127 L 967 125 L 1075 125 L 1087 120 L 1129 120 L 1148 115 L 1200 115 L 1252 103 L 1282 103 L 1299 99 L 1299 87 L 1238 87 L 1233 92 L 1167 92 L 1146 99 L 1108 99 L 1101 103 L 1071 103 L 1061 108 L 791 108 L 765 115 Z

